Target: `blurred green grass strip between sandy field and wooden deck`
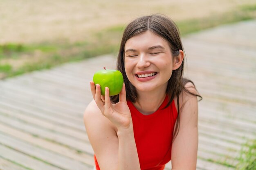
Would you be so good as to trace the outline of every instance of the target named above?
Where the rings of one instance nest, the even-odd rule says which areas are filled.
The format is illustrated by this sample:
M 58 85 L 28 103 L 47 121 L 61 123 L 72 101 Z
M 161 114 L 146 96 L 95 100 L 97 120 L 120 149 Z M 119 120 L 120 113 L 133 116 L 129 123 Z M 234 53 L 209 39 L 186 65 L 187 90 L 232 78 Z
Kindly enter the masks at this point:
M 243 5 L 235 11 L 200 19 L 177 21 L 184 37 L 207 28 L 256 18 L 256 4 Z M 89 33 L 85 41 L 75 43 L 0 45 L 0 78 L 49 69 L 66 62 L 76 62 L 101 54 L 117 54 L 124 25 L 115 25 Z

